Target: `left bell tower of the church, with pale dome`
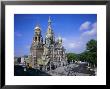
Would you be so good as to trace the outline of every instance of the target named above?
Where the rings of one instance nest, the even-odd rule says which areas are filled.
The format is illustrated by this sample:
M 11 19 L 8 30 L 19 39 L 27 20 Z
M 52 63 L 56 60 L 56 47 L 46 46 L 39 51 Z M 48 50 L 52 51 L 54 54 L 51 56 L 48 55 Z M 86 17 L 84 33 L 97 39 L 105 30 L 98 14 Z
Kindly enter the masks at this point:
M 38 61 L 41 60 L 43 55 L 43 37 L 41 35 L 41 29 L 39 25 L 37 25 L 34 28 L 34 37 L 30 48 L 30 52 L 31 52 L 30 65 L 33 68 L 37 68 L 39 66 Z

